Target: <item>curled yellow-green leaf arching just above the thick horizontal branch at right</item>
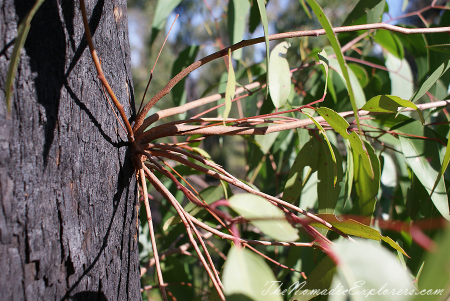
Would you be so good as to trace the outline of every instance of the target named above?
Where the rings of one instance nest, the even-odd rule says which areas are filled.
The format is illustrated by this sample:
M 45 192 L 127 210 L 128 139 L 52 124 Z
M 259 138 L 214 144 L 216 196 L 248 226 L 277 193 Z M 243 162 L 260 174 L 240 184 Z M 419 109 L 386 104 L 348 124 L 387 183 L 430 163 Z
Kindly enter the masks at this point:
M 411 107 L 417 111 L 420 116 L 420 122 L 425 123 L 423 119 L 422 112 L 420 109 L 411 101 L 401 99 L 400 97 L 393 95 L 378 95 L 371 98 L 364 104 L 361 109 L 367 110 L 369 112 L 393 112 L 398 111 L 398 107 Z

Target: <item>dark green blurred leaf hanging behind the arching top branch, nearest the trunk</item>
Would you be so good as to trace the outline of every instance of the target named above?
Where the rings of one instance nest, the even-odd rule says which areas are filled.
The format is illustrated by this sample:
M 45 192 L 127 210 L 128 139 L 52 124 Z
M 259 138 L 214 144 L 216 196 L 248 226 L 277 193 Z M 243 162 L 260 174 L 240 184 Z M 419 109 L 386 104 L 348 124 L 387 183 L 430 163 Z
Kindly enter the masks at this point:
M 185 69 L 188 65 L 195 61 L 195 56 L 197 56 L 198 49 L 200 49 L 199 46 L 191 45 L 179 53 L 178 57 L 173 62 L 171 77 L 174 77 L 181 70 Z M 184 89 L 185 80 L 186 77 L 183 77 L 170 91 L 172 94 L 173 104 L 175 106 L 186 103 L 186 90 Z M 180 119 L 185 119 L 186 113 L 180 114 L 179 117 Z

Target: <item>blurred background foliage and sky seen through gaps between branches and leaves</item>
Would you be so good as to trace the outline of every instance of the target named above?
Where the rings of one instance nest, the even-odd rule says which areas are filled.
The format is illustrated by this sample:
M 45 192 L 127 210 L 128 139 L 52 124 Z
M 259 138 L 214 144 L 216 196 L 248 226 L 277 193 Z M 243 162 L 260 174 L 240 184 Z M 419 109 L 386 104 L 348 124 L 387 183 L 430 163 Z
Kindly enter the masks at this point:
M 242 0 L 246 1 L 246 0 Z M 148 80 L 149 71 L 153 66 L 154 60 L 159 51 L 165 33 L 168 31 L 171 22 L 176 13 L 179 18 L 176 20 L 168 41 L 161 52 L 159 61 L 154 70 L 153 79 L 147 91 L 146 100 L 156 94 L 176 73 L 174 70 L 181 70 L 187 61 L 193 61 L 193 58 L 199 59 L 211 54 L 230 44 L 229 31 L 229 3 L 227 0 L 182 0 L 168 16 L 167 22 L 162 30 L 152 38 L 152 20 L 156 10 L 156 0 L 129 0 L 128 1 L 128 26 L 129 39 L 131 45 L 131 63 L 133 68 L 134 93 L 136 106 L 140 104 L 145 86 Z M 324 12 L 333 26 L 343 24 L 348 13 L 355 7 L 357 0 L 318 0 L 324 9 Z M 421 17 L 412 15 L 407 18 L 395 19 L 399 15 L 408 12 L 414 12 L 420 8 L 429 5 L 431 1 L 409 0 L 409 1 L 387 1 L 383 14 L 383 20 L 394 19 L 392 24 L 400 24 L 407 27 L 426 27 L 426 26 L 449 26 L 450 11 L 444 9 L 428 9 L 421 14 Z M 445 5 L 447 1 L 437 1 L 436 4 Z M 250 12 L 244 22 L 244 39 L 259 37 L 263 35 L 259 15 L 254 12 L 255 0 L 250 1 Z M 253 6 L 253 7 L 252 7 Z M 307 6 L 308 7 L 308 6 Z M 269 33 L 308 30 L 321 28 L 317 18 L 312 14 L 309 17 L 298 0 L 269 0 L 266 6 Z M 310 9 L 309 9 L 310 11 Z M 312 12 L 311 12 L 312 13 Z M 355 20 L 353 24 L 367 22 L 367 16 Z M 341 45 L 346 44 L 356 38 L 362 32 L 346 32 L 338 34 Z M 288 39 L 291 43 L 286 59 L 290 68 L 298 67 L 298 70 L 292 73 L 292 88 L 287 102 L 281 108 L 287 110 L 292 107 L 298 107 L 309 103 L 321 97 L 325 86 L 325 76 L 320 65 L 317 62 L 317 52 L 325 49 L 328 56 L 333 53 L 325 35 L 319 37 L 305 37 Z M 272 49 L 280 41 L 271 41 Z M 392 94 L 404 99 L 409 99 L 414 91 L 417 90 L 428 76 L 445 60 L 448 59 L 448 52 L 434 51 L 425 46 L 436 44 L 448 44 L 447 33 L 432 34 L 414 34 L 402 35 L 400 33 L 377 30 L 361 39 L 351 49 L 345 52 L 347 63 L 357 78 L 360 86 L 358 106 L 361 107 L 366 100 L 380 95 Z M 196 47 L 198 46 L 198 47 Z M 244 85 L 254 80 L 264 80 L 265 76 L 265 48 L 264 45 L 257 44 L 243 49 L 242 58 L 234 61 L 234 71 L 236 80 Z M 330 66 L 332 66 L 330 59 Z M 396 71 L 393 71 L 396 70 Z M 216 59 L 198 70 L 195 70 L 184 81 L 184 86 L 175 88 L 167 96 L 162 98 L 149 112 L 169 108 L 182 104 L 184 101 L 192 101 L 204 95 L 216 92 L 224 92 L 227 78 L 227 61 Z M 423 96 L 417 103 L 429 102 L 435 100 L 448 99 L 450 84 L 450 73 L 443 74 L 429 89 L 429 94 Z M 330 87 L 331 86 L 331 87 Z M 181 95 L 184 93 L 184 95 Z M 217 103 L 209 105 L 212 107 Z M 330 70 L 328 79 L 328 93 L 320 106 L 332 108 L 336 112 L 351 110 L 348 93 L 339 74 L 333 69 Z M 189 116 L 195 115 L 206 107 L 196 108 L 189 111 Z M 247 99 L 233 103 L 230 117 L 244 117 L 264 113 L 270 113 L 275 110 L 270 98 L 264 99 L 264 93 L 255 93 Z M 221 115 L 222 110 L 213 110 L 204 116 L 216 117 Z M 438 137 L 446 144 L 448 137 L 448 124 L 450 116 L 445 109 L 435 109 L 424 111 L 425 123 L 433 130 L 434 136 Z M 288 117 L 307 118 L 298 112 L 294 114 L 285 114 Z M 185 118 L 186 114 L 172 116 L 171 119 L 164 122 Z M 381 116 L 373 120 L 364 120 L 365 124 L 381 128 L 390 129 L 393 125 L 409 118 L 418 119 L 418 114 L 405 112 L 396 119 L 393 116 Z M 315 128 L 311 126 L 310 128 Z M 380 165 L 380 184 L 374 188 L 376 194 L 376 204 L 373 216 L 380 220 L 400 220 L 407 224 L 411 220 L 433 218 L 438 215 L 433 203 L 428 201 L 429 195 L 424 188 L 423 180 L 415 174 L 408 164 L 401 151 L 401 140 L 392 135 L 379 136 L 378 132 L 370 132 L 370 128 L 365 127 L 365 134 L 371 147 L 375 150 Z M 201 147 L 210 155 L 216 163 L 224 166 L 234 176 L 255 185 L 261 191 L 279 195 L 285 186 L 289 170 L 295 157 L 305 143 L 314 135 L 307 129 L 287 130 L 284 132 L 273 133 L 266 136 L 211 136 L 201 143 L 191 145 Z M 337 203 L 332 213 L 357 215 L 357 200 L 362 196 L 355 191 L 355 185 L 352 184 L 354 176 L 348 169 L 351 159 L 351 151 L 344 139 L 332 130 L 327 131 L 330 142 L 335 145 L 338 155 L 343 161 L 343 179 L 340 184 L 340 192 Z M 165 142 L 182 141 L 181 137 L 172 137 Z M 445 147 L 436 143 L 436 149 L 441 157 L 445 152 Z M 199 151 L 199 150 L 198 150 Z M 350 168 L 352 165 L 350 165 Z M 192 185 L 201 190 L 200 194 L 206 202 L 210 203 L 221 198 L 228 198 L 232 194 L 239 192 L 239 189 L 228 186 L 225 183 L 216 181 L 216 179 L 199 174 L 196 171 L 189 170 L 185 166 L 175 166 L 181 175 L 186 176 Z M 306 175 L 307 174 L 307 175 Z M 317 213 L 317 173 L 305 172 L 304 183 L 300 191 L 299 203 L 296 204 L 303 209 L 308 209 Z M 163 178 L 161 176 L 161 178 Z M 433 181 L 435 179 L 432 179 Z M 445 174 L 445 186 L 448 187 L 450 176 Z M 182 192 L 178 191 L 170 180 L 163 182 L 173 195 L 186 207 L 192 209 L 192 205 L 184 198 Z M 349 187 L 348 187 L 349 185 Z M 353 185 L 353 186 L 352 186 Z M 179 223 L 170 223 L 170 218 L 174 216 L 173 208 L 164 199 L 155 192 L 149 185 L 149 191 L 152 194 L 152 206 L 154 206 L 153 215 L 158 245 L 161 251 L 173 248 L 174 245 L 182 245 L 187 241 L 184 228 Z M 369 187 L 373 190 L 373 187 Z M 190 206 L 190 207 L 189 207 Z M 140 258 L 142 266 L 148 266 L 148 260 L 152 257 L 151 245 L 148 241 L 148 228 L 146 225 L 145 214 L 141 209 L 141 234 L 139 236 Z M 223 210 L 229 210 L 223 208 Z M 231 211 L 229 210 L 230 214 Z M 196 217 L 209 220 L 205 210 L 198 210 Z M 168 223 L 167 223 L 168 221 Z M 211 223 L 212 224 L 212 223 Z M 406 253 L 411 257 L 406 258 L 405 266 L 409 268 L 415 276 L 420 270 L 425 251 L 422 245 L 413 241 L 411 234 L 405 230 L 399 230 L 398 227 L 380 226 L 374 227 L 381 230 L 383 235 L 388 235 L 394 241 L 400 241 Z M 400 227 L 401 228 L 401 227 Z M 145 230 L 147 229 L 147 230 Z M 310 241 L 307 235 L 299 230 L 300 241 Z M 424 231 L 426 235 L 434 238 L 434 235 L 441 235 L 441 228 L 428 228 Z M 261 233 L 253 231 L 251 225 L 243 224 L 241 229 L 242 237 L 249 239 L 260 239 Z M 330 239 L 337 238 L 337 234 L 331 232 L 328 234 Z M 230 247 L 228 241 L 213 239 L 214 247 L 219 252 L 213 252 L 214 262 L 217 262 L 217 269 L 220 271 L 224 262 L 224 256 Z M 299 247 L 276 247 L 276 246 L 256 246 L 256 249 L 267 256 L 289 266 L 296 270 L 303 271 L 309 275 L 317 263 L 324 257 L 322 252 L 312 248 Z M 390 249 L 392 250 L 392 249 Z M 395 253 L 396 254 L 396 253 Z M 400 256 L 400 255 L 398 255 Z M 403 257 L 402 257 L 403 259 Z M 266 261 L 268 262 L 268 261 Z M 269 262 L 268 262 L 269 263 Z M 166 257 L 161 262 L 163 268 L 164 280 L 166 282 L 185 282 L 191 283 L 196 288 L 186 285 L 168 286 L 170 293 L 177 300 L 207 299 L 204 290 L 209 291 L 207 276 L 198 263 L 195 256 L 188 254 L 176 254 Z M 278 265 L 269 263 L 270 268 L 277 276 L 277 279 L 284 281 L 286 288 L 290 283 L 301 279 L 301 275 L 280 268 Z M 154 270 L 150 267 L 142 276 L 142 287 L 145 285 L 154 285 Z M 201 289 L 199 289 L 200 287 Z M 159 299 L 159 291 L 146 290 L 143 298 L 152 300 Z M 286 299 L 287 296 L 286 296 Z

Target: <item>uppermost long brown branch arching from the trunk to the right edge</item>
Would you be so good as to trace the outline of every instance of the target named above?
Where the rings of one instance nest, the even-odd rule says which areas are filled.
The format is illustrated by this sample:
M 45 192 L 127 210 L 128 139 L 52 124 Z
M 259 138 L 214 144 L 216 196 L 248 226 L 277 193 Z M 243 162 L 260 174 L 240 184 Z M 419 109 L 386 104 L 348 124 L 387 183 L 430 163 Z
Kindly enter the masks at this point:
M 450 27 L 434 27 L 434 28 L 403 28 L 395 25 L 385 24 L 385 23 L 374 23 L 374 24 L 362 24 L 362 25 L 352 25 L 352 26 L 342 26 L 342 27 L 334 27 L 333 31 L 335 33 L 339 32 L 348 32 L 348 31 L 356 31 L 356 30 L 367 30 L 367 29 L 386 29 L 391 31 L 400 32 L 403 34 L 411 34 L 411 33 L 435 33 L 435 32 L 450 32 Z M 292 38 L 292 37 L 300 37 L 300 36 L 319 36 L 325 34 L 324 29 L 317 29 L 317 30 L 303 30 L 303 31 L 292 31 L 292 32 L 285 32 L 285 33 L 277 33 L 277 34 L 271 34 L 268 36 L 269 40 L 276 40 L 276 39 L 283 39 L 283 38 Z M 201 58 L 200 60 L 197 60 L 196 62 L 192 63 L 191 65 L 187 66 L 184 70 L 176 74 L 172 79 L 169 80 L 169 82 L 165 85 L 162 90 L 160 90 L 150 101 L 145 104 L 142 111 L 139 113 L 139 115 L 136 118 L 136 122 L 133 126 L 133 130 L 137 131 L 138 133 L 142 132 L 144 128 L 140 128 L 143 124 L 143 121 L 145 119 L 145 115 L 150 110 L 150 108 L 159 101 L 164 95 L 166 95 L 172 87 L 179 82 L 182 78 L 184 78 L 187 74 L 195 70 L 196 68 L 204 65 L 205 63 L 208 63 L 218 57 L 224 56 L 228 53 L 228 49 L 231 49 L 231 51 L 234 51 L 236 49 L 253 45 L 256 43 L 264 42 L 264 37 L 258 37 L 253 38 L 249 40 L 242 40 L 234 45 L 231 45 L 229 47 L 226 47 L 222 50 L 219 50 L 213 54 L 210 54 L 206 57 Z

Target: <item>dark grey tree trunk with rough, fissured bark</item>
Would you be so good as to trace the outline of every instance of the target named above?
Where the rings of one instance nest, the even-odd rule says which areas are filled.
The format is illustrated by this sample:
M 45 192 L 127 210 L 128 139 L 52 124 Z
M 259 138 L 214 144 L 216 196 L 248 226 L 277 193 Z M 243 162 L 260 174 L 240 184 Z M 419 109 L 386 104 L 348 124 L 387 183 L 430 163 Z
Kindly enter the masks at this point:
M 0 0 L 0 299 L 140 299 L 136 178 L 78 1 L 45 0 L 37 10 L 7 114 L 14 38 L 33 4 Z M 104 74 L 130 116 L 126 1 L 88 0 L 86 9 Z

